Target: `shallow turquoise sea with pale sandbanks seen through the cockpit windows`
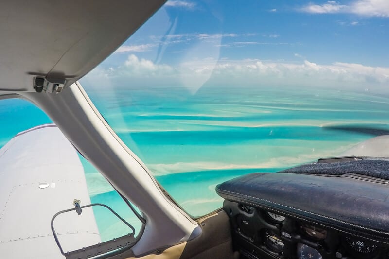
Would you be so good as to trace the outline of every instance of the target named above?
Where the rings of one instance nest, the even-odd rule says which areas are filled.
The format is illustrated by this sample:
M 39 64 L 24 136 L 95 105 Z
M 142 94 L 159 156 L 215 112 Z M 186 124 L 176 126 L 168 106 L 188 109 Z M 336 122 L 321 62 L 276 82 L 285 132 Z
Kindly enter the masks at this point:
M 252 172 L 336 156 L 387 134 L 389 96 L 341 89 L 83 86 L 120 138 L 172 197 L 193 216 L 222 206 L 216 184 Z M 51 122 L 33 104 L 0 101 L 0 147 L 18 132 Z M 140 224 L 106 180 L 80 156 L 92 202 Z M 95 211 L 103 239 L 120 223 Z M 124 233 L 123 233 L 124 234 Z

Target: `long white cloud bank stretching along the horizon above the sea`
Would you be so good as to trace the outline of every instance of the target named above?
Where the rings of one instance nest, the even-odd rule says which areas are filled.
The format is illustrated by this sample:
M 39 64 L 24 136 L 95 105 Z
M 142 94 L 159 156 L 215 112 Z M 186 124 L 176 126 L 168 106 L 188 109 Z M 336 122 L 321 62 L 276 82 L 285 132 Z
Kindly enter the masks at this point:
M 295 56 L 301 56 L 297 54 Z M 96 70 L 97 74 L 119 80 L 119 85 L 180 86 L 188 89 L 208 86 L 310 86 L 336 89 L 386 91 L 389 68 L 336 62 L 321 65 L 308 60 L 301 62 L 265 61 L 258 59 L 204 58 L 185 60 L 176 66 L 155 64 L 129 55 L 116 68 Z M 109 79 L 111 78 L 111 79 Z M 103 80 L 100 80 L 103 82 Z M 358 88 L 359 87 L 359 88 Z

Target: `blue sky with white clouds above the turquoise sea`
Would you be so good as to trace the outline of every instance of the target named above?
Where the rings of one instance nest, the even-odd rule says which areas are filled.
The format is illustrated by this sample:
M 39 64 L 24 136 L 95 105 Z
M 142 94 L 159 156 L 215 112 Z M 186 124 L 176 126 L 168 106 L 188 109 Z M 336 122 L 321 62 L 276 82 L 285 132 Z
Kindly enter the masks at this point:
M 169 0 L 86 84 L 386 91 L 388 27 L 388 0 Z

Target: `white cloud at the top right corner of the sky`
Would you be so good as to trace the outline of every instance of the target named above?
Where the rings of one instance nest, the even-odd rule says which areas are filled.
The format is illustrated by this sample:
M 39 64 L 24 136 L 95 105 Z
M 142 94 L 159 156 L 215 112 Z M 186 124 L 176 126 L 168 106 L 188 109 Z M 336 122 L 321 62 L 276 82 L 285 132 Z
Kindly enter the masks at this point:
M 389 1 L 354 0 L 348 5 L 327 1 L 325 4 L 310 3 L 302 7 L 301 11 L 311 14 L 350 13 L 368 17 L 389 17 Z

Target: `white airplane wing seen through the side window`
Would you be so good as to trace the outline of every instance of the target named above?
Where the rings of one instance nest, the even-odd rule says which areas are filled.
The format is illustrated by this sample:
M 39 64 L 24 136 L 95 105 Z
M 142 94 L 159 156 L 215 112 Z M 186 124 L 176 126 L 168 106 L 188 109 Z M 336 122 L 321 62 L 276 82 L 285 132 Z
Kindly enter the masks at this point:
M 20 132 L 0 149 L 0 251 L 3 258 L 64 258 L 51 220 L 90 204 L 76 150 L 54 124 Z M 64 251 L 101 242 L 91 208 L 61 214 L 54 221 Z M 5 253 L 5 254 L 4 254 Z

